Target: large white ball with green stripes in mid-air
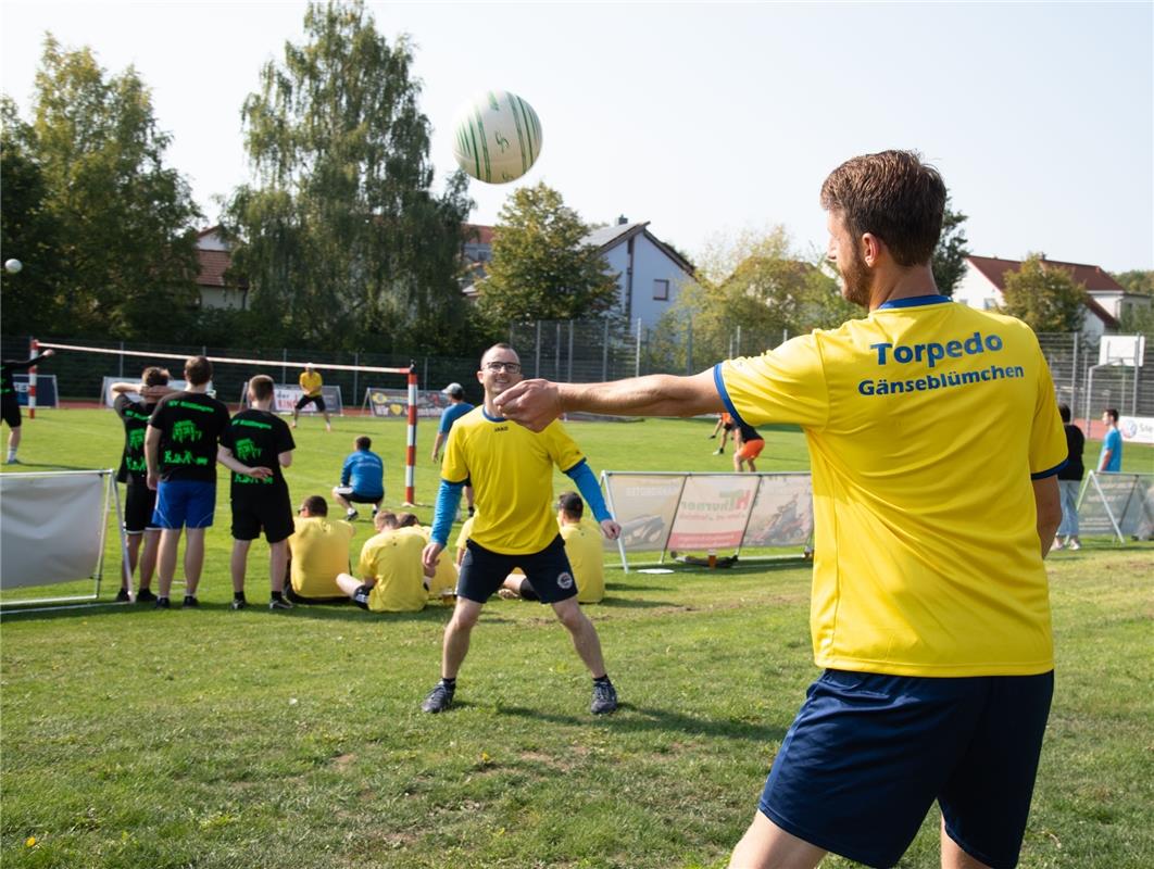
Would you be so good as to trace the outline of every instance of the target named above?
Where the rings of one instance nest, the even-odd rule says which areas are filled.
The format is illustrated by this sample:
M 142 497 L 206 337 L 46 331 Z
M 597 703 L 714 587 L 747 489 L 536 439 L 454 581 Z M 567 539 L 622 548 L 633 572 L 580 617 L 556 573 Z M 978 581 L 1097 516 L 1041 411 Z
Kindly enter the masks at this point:
M 540 153 L 541 122 L 516 93 L 486 91 L 458 111 L 452 156 L 478 181 L 516 181 Z

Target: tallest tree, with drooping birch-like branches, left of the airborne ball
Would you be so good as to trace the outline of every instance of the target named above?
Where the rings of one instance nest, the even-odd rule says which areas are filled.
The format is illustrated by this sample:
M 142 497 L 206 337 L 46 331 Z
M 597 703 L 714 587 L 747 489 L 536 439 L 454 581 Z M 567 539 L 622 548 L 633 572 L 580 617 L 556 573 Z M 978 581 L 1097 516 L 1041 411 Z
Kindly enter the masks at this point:
M 411 45 L 390 46 L 360 0 L 310 2 L 305 35 L 243 105 L 256 179 L 226 208 L 234 271 L 299 342 L 448 349 L 467 328 L 457 278 L 472 203 L 460 172 L 429 192 Z

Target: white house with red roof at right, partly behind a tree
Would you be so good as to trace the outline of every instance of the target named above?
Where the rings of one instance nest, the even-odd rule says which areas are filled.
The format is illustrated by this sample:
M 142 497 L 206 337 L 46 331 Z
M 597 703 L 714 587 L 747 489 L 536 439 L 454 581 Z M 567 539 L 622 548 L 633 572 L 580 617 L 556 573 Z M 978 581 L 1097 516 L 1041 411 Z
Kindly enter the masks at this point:
M 1047 267 L 1065 269 L 1076 283 L 1086 287 L 1089 298 L 1086 301 L 1086 319 L 1082 321 L 1084 335 L 1114 335 L 1118 331 L 1123 316 L 1139 306 L 1149 307 L 1154 301 L 1148 295 L 1127 292 L 1100 265 L 1048 260 L 1044 255 L 1042 262 Z M 954 301 L 982 310 L 997 308 L 1004 301 L 1006 274 L 1020 268 L 1020 260 L 967 256 L 966 274 L 953 291 Z

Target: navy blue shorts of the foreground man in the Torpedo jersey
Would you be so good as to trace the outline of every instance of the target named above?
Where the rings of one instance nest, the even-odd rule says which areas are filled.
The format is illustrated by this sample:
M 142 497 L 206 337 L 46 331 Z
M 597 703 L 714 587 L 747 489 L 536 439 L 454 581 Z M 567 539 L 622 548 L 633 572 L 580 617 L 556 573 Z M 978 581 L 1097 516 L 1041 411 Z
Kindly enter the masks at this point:
M 946 833 L 1018 862 L 1054 673 L 926 679 L 827 669 L 781 742 L 759 809 L 810 845 L 894 866 L 934 801 Z

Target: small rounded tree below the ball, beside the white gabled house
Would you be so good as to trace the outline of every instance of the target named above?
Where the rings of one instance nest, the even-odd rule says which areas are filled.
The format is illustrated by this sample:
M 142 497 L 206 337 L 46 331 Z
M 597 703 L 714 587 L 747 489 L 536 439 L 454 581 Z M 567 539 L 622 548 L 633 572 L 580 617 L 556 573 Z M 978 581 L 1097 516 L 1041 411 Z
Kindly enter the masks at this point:
M 589 227 L 544 182 L 516 190 L 493 233 L 493 260 L 481 284 L 480 306 L 494 324 L 526 319 L 580 320 L 617 305 L 617 279 Z

